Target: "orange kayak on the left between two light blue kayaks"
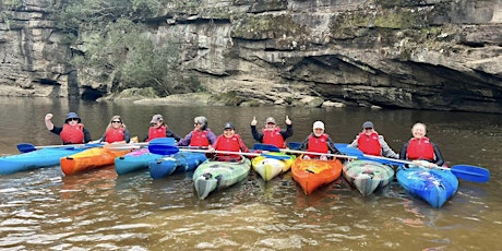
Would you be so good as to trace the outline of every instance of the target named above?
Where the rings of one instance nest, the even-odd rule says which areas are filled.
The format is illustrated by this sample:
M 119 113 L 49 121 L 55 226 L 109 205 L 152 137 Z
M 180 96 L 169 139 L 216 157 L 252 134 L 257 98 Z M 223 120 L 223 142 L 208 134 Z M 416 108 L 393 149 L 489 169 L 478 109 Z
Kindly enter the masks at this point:
M 130 153 L 131 150 L 117 151 L 107 147 L 94 147 L 77 154 L 62 157 L 61 170 L 64 175 L 73 175 L 75 172 L 94 169 L 97 167 L 113 165 L 115 158 Z

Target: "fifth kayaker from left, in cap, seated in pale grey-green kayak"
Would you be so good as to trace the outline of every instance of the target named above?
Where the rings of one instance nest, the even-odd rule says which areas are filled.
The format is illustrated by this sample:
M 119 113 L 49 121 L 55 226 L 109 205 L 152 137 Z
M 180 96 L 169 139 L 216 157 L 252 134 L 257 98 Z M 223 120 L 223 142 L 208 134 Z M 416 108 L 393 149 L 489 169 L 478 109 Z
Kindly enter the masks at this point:
M 210 146 L 210 153 L 214 151 L 236 152 L 236 154 L 216 154 L 214 158 L 219 162 L 239 162 L 242 159 L 239 152 L 249 153 L 248 146 L 240 135 L 236 134 L 236 128 L 231 122 L 225 123 L 223 134 Z

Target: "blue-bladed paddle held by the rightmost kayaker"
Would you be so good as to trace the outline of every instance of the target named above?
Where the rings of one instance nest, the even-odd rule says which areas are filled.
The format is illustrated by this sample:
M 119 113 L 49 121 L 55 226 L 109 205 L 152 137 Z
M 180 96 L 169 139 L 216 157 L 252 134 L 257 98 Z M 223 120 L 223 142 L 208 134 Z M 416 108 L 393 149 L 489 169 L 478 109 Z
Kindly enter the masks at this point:
M 352 148 L 352 147 L 337 147 L 337 148 L 339 152 L 344 154 L 355 155 L 358 157 L 364 157 L 368 159 L 379 159 L 379 160 L 384 160 L 391 164 L 394 163 L 394 164 L 415 165 L 413 162 L 409 162 L 409 160 L 367 155 L 367 154 L 363 154 L 358 148 Z M 471 182 L 483 183 L 490 180 L 490 170 L 482 168 L 482 167 L 470 166 L 470 165 L 455 165 L 451 168 L 444 168 L 440 166 L 435 166 L 434 168 L 442 169 L 442 170 L 450 170 L 453 172 L 453 175 L 456 176 L 456 178 L 471 181 Z

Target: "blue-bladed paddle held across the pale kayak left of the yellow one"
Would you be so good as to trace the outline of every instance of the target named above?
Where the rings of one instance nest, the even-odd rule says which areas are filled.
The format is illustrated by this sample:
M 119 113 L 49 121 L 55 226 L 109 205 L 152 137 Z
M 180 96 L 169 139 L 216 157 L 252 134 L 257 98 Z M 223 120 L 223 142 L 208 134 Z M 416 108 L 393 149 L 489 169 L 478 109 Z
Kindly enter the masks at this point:
M 279 155 L 272 155 L 272 154 L 259 154 L 259 153 L 242 153 L 242 152 L 230 152 L 230 151 L 210 151 L 210 150 L 196 150 L 196 148 L 179 148 L 175 145 L 167 145 L 167 144 L 150 144 L 148 151 L 153 154 L 159 155 L 172 155 L 177 154 L 178 152 L 193 152 L 193 153 L 215 153 L 215 154 L 238 154 L 244 156 L 264 156 L 267 158 L 275 158 L 275 159 L 289 159 L 290 156 L 279 156 Z

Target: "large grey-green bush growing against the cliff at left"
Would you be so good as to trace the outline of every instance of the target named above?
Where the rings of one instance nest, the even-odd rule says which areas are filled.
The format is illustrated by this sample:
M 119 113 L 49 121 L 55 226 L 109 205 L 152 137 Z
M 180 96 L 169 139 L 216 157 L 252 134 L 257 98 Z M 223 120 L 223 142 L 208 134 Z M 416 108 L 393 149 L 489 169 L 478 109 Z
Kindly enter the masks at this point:
M 146 26 L 127 19 L 108 23 L 99 33 L 83 37 L 84 55 L 73 63 L 83 69 L 110 72 L 116 91 L 152 86 L 160 95 L 171 93 L 178 76 L 178 50 L 171 41 L 154 45 Z

